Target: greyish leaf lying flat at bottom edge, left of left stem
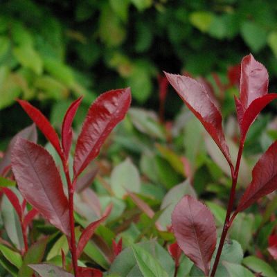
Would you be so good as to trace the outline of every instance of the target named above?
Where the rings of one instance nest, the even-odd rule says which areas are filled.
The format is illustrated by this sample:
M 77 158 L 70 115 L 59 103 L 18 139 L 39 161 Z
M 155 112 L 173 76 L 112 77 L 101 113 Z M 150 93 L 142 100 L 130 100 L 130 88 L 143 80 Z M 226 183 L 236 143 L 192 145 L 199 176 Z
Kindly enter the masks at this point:
M 73 274 L 64 271 L 62 267 L 57 267 L 56 265 L 39 264 L 29 265 L 29 267 L 34 269 L 42 277 L 73 277 Z

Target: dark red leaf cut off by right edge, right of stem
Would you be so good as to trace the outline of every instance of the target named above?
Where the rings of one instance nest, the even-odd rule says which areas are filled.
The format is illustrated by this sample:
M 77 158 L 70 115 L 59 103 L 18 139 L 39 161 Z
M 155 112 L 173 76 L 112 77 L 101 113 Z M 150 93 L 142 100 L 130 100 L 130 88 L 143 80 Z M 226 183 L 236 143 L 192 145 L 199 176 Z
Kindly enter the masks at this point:
M 252 170 L 252 181 L 240 198 L 235 215 L 245 210 L 260 197 L 277 189 L 277 141 L 262 154 Z

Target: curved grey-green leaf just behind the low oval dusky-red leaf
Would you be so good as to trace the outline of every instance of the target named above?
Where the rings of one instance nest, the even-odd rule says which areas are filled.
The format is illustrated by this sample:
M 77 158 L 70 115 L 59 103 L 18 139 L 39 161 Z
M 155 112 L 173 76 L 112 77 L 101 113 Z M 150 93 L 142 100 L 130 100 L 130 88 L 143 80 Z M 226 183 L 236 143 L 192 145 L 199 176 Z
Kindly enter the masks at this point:
M 166 227 L 171 224 L 171 214 L 179 200 L 184 195 L 192 195 L 197 197 L 194 188 L 190 185 L 188 180 L 182 182 L 171 188 L 161 202 L 161 210 L 166 208 L 165 211 L 159 217 L 159 223 L 166 230 Z

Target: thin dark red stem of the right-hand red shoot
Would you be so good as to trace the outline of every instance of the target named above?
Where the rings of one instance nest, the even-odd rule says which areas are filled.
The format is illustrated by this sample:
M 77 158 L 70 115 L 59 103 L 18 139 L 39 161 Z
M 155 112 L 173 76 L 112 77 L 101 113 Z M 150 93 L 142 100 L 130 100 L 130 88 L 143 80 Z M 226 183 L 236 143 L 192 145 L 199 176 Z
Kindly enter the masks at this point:
M 241 139 L 240 140 L 240 148 L 238 150 L 237 162 L 235 164 L 235 171 L 233 170 L 233 166 L 230 166 L 231 176 L 232 176 L 231 193 L 230 193 L 230 197 L 229 197 L 229 203 L 228 203 L 228 208 L 227 208 L 227 212 L 226 212 L 223 231 L 222 231 L 222 235 L 221 235 L 221 238 L 220 238 L 220 244 L 218 246 L 217 253 L 216 253 L 216 256 L 215 256 L 215 262 L 213 263 L 213 269 L 211 271 L 211 277 L 215 276 L 215 271 L 217 270 L 218 263 L 220 262 L 220 256 L 221 256 L 221 253 L 222 253 L 222 249 L 223 249 L 223 245 L 224 245 L 226 235 L 228 233 L 229 228 L 231 227 L 231 224 L 233 223 L 233 219 L 235 218 L 233 216 L 232 220 L 230 221 L 231 212 L 233 210 L 233 202 L 235 200 L 235 188 L 236 188 L 237 182 L 238 182 L 238 172 L 239 172 L 239 169 L 240 169 L 240 160 L 242 159 L 243 147 L 244 147 L 244 139 Z

